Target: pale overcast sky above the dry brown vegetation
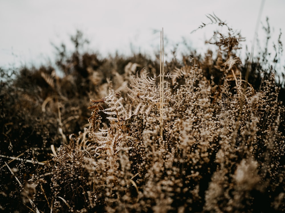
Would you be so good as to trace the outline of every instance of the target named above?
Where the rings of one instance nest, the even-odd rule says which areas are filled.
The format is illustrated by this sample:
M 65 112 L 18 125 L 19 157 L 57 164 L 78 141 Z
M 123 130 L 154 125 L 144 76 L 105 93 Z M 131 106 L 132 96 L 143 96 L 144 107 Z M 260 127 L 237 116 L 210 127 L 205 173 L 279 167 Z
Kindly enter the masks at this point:
M 213 12 L 233 29 L 241 30 L 251 48 L 261 4 L 262 0 L 1 0 L 0 66 L 54 62 L 51 42 L 68 46 L 77 29 L 91 41 L 87 50 L 99 52 L 102 57 L 115 51 L 130 55 L 131 49 L 153 55 L 159 49 L 162 27 L 166 50 L 173 49 L 184 37 L 190 47 L 203 52 L 205 39 L 211 38 L 217 26 L 190 32 L 201 22 L 208 23 L 205 15 Z M 285 43 L 284 9 L 284 0 L 265 0 L 260 22 L 265 25 L 268 16 L 274 28 L 270 46 L 277 43 L 280 28 Z M 261 28 L 260 24 L 258 36 L 262 43 L 265 34 Z

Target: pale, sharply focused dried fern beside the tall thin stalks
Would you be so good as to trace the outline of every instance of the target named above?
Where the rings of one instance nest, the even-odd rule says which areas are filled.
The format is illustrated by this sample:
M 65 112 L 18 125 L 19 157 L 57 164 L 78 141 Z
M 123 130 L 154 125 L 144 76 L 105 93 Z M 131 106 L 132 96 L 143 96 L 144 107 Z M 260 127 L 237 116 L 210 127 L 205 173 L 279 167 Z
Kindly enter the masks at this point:
M 148 76 L 148 73 L 145 71 L 145 69 L 142 69 L 141 72 L 137 72 L 133 83 L 127 87 L 127 91 L 129 91 L 127 95 L 132 101 L 128 107 L 122 104 L 124 100 L 123 97 L 118 98 L 120 94 L 114 93 L 113 91 L 109 91 L 109 95 L 102 99 L 90 99 L 92 103 L 97 104 L 88 107 L 93 110 L 89 122 L 91 124 L 90 135 L 98 144 L 96 153 L 103 153 L 103 151 L 109 149 L 110 146 L 112 147 L 113 153 L 119 151 L 119 146 L 124 135 L 122 130 L 125 129 L 125 122 L 136 114 L 150 114 L 153 108 L 157 110 L 157 106 L 161 107 L 160 89 L 162 84 L 166 85 L 162 90 L 165 99 L 171 102 L 174 101 L 168 91 L 169 83 L 162 81 L 160 85 L 158 85 L 156 78 L 161 76 L 154 76 L 154 78 L 152 78 Z M 178 76 L 173 73 L 168 73 L 163 76 L 166 78 L 178 78 Z M 138 101 L 138 103 L 135 103 L 135 101 Z M 105 103 L 107 108 L 103 109 L 101 103 Z M 134 105 L 135 109 L 133 110 Z M 98 120 L 99 112 L 108 115 L 106 119 L 109 120 L 109 128 L 99 128 L 99 123 L 101 122 Z M 152 113 L 151 116 L 158 119 L 156 114 L 157 112 Z M 110 145 L 110 143 L 113 145 Z

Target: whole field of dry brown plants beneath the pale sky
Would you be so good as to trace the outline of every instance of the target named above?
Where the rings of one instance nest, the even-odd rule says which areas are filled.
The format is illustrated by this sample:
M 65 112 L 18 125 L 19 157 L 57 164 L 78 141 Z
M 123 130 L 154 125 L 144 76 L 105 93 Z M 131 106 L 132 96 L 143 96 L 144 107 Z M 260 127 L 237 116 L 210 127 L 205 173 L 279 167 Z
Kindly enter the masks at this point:
M 0 68 L 0 211 L 284 212 L 282 42 L 242 62 L 208 18 L 216 51 L 181 61 L 102 59 L 78 31 L 62 75 Z

